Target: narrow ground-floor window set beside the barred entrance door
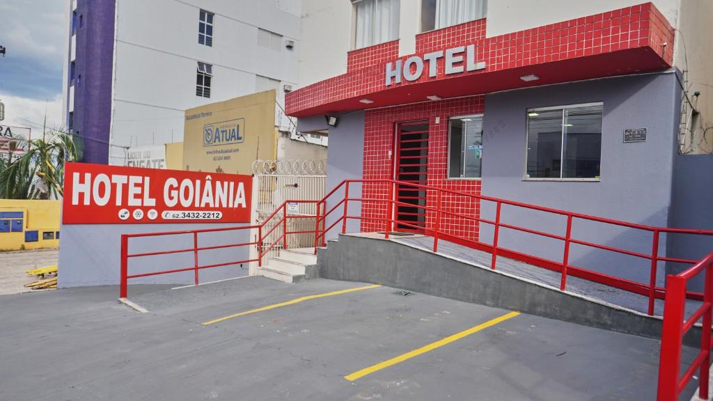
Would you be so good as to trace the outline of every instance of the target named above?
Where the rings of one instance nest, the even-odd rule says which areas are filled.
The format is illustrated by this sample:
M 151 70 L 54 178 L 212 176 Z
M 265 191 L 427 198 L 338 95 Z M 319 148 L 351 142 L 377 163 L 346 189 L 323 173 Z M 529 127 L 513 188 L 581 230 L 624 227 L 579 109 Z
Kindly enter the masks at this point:
M 483 116 L 448 120 L 448 178 L 481 178 Z

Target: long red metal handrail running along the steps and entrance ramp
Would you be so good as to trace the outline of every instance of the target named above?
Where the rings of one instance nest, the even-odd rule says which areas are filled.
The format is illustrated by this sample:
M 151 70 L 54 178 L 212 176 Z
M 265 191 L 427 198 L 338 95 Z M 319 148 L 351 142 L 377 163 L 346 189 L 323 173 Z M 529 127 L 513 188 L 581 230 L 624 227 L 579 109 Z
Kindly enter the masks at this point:
M 386 184 L 388 186 L 388 191 L 386 194 L 386 198 L 355 198 L 354 196 L 350 196 L 350 191 L 349 191 L 349 186 L 352 184 Z M 427 205 L 418 205 L 418 204 L 412 204 L 412 203 L 404 203 L 401 202 L 400 200 L 396 199 L 395 195 L 395 188 L 396 186 L 399 186 L 399 189 L 403 188 L 417 188 L 421 190 L 426 190 L 426 191 L 435 191 L 436 199 L 438 201 L 436 202 L 436 206 L 427 206 Z M 341 196 L 341 198 L 335 200 L 334 205 L 327 209 L 327 200 L 332 198 L 337 191 L 339 191 L 340 188 L 344 187 L 344 194 Z M 470 198 L 470 199 L 477 199 L 480 201 L 488 201 L 488 202 L 493 202 L 496 204 L 496 216 L 495 220 L 488 220 L 485 218 L 481 218 L 480 216 L 475 216 L 475 215 L 465 215 L 463 213 L 454 213 L 451 210 L 443 210 L 443 195 L 451 195 L 451 196 L 462 196 L 465 198 Z M 349 215 L 349 204 L 353 202 L 370 202 L 370 203 L 375 203 L 375 202 L 381 202 L 384 203 L 385 205 L 385 212 L 382 217 L 374 217 L 374 215 L 359 215 L 359 216 L 353 216 Z M 292 202 L 297 202 L 297 203 L 314 203 L 315 208 L 316 208 L 316 214 L 315 215 L 289 215 L 287 213 L 287 203 L 292 203 Z M 403 221 L 397 221 L 398 219 L 396 216 L 394 216 L 394 210 L 396 209 L 396 206 L 398 205 L 408 205 L 409 207 L 413 208 L 418 208 L 419 210 L 422 211 L 422 213 L 419 213 L 419 215 L 429 215 L 429 213 L 433 213 L 436 215 L 436 222 L 432 224 L 432 226 L 420 226 L 420 225 L 414 225 L 410 223 L 404 223 Z M 503 213 L 502 211 L 502 205 L 511 205 L 515 206 L 518 208 L 526 208 L 530 210 L 538 210 L 542 211 L 545 213 L 552 213 L 555 215 L 562 215 L 567 218 L 567 228 L 565 230 L 565 233 L 562 235 L 555 234 L 555 233 L 547 233 L 542 230 L 535 230 L 532 228 L 525 228 L 519 225 L 515 224 L 508 224 L 508 223 L 502 223 L 501 222 L 501 214 Z M 340 206 L 342 207 L 342 210 L 339 210 Z M 338 213 L 339 210 L 339 213 Z M 265 225 L 270 223 L 270 221 L 275 218 L 275 216 L 278 215 L 278 213 L 282 212 L 282 215 L 279 217 L 279 220 L 272 225 L 270 228 L 265 228 Z M 333 213 L 338 213 L 335 218 L 335 220 L 327 225 L 327 218 L 329 215 L 332 215 Z M 399 213 L 403 215 L 403 213 Z M 459 218 L 459 219 L 467 219 L 467 220 L 474 220 L 478 221 L 479 223 L 485 223 L 489 225 L 493 225 L 493 243 L 482 243 L 479 240 L 471 240 L 471 239 L 466 239 L 466 238 L 459 238 L 456 235 L 453 235 L 451 233 L 448 233 L 447 230 L 444 230 L 443 227 L 440 224 L 440 220 L 443 215 L 448 216 L 449 218 Z M 314 218 L 314 230 L 299 230 L 299 231 L 288 231 L 287 230 L 287 220 L 291 218 Z M 136 258 L 140 256 L 148 256 L 148 255 L 163 255 L 163 254 L 168 254 L 168 253 L 181 253 L 181 252 L 190 252 L 193 251 L 195 255 L 198 255 L 198 252 L 202 250 L 209 250 L 209 249 L 215 249 L 215 248 L 230 248 L 231 246 L 251 246 L 251 245 L 257 245 L 258 252 L 257 252 L 257 261 L 258 265 L 262 265 L 262 260 L 267 255 L 270 250 L 275 248 L 275 246 L 279 243 L 281 243 L 282 248 L 287 248 L 287 237 L 288 235 L 291 234 L 304 234 L 304 233 L 314 233 L 314 253 L 317 253 L 317 248 L 319 245 L 326 245 L 326 239 L 327 239 L 327 233 L 329 233 L 332 228 L 334 228 L 336 225 L 339 223 L 342 223 L 342 233 L 346 233 L 347 231 L 347 220 L 349 219 L 356 219 L 356 220 L 371 220 L 376 222 L 377 225 L 383 224 L 384 227 L 384 237 L 389 238 L 389 233 L 391 230 L 394 228 L 394 223 L 398 223 L 399 225 L 405 226 L 405 227 L 410 227 L 413 228 L 414 230 L 423 230 L 424 233 L 427 233 L 429 235 L 434 236 L 434 251 L 438 250 L 438 240 L 441 239 L 451 239 L 451 240 L 456 240 L 456 242 L 463 243 L 464 245 L 472 246 L 473 248 L 478 248 L 481 250 L 486 250 L 492 254 L 492 259 L 491 259 L 491 268 L 495 269 L 496 268 L 496 263 L 497 263 L 497 258 L 498 256 L 503 256 L 503 257 L 508 257 L 508 258 L 515 258 L 521 261 L 524 261 L 526 263 L 532 263 L 534 265 L 538 265 L 543 268 L 548 268 L 550 270 L 555 270 L 559 271 L 561 273 L 561 282 L 560 282 L 560 289 L 565 290 L 566 285 L 567 285 L 567 278 L 569 275 L 573 275 L 575 277 L 579 278 L 585 278 L 586 280 L 593 280 L 596 281 L 597 283 L 602 283 L 605 285 L 610 285 L 615 288 L 620 288 L 622 290 L 627 290 L 633 293 L 638 293 L 641 295 L 646 295 L 649 298 L 649 308 L 648 308 L 648 313 L 650 315 L 653 314 L 654 312 L 654 300 L 656 298 L 664 298 L 665 297 L 665 289 L 660 288 L 656 286 L 656 270 L 657 270 L 657 263 L 659 261 L 674 261 L 674 262 L 679 262 L 679 263 L 692 263 L 694 262 L 693 260 L 688 260 L 688 259 L 682 259 L 682 258 L 670 258 L 665 255 L 658 255 L 658 243 L 659 243 L 659 237 L 660 233 L 686 233 L 686 234 L 700 234 L 700 235 L 713 235 L 713 230 L 691 230 L 691 229 L 682 229 L 682 228 L 667 228 L 667 227 L 655 227 L 651 225 L 642 225 L 642 224 L 637 224 L 637 223 L 629 223 L 621 220 L 613 220 L 609 218 L 600 218 L 597 216 L 592 216 L 592 215 L 585 215 L 583 213 L 574 213 L 570 212 L 567 210 L 559 210 L 559 209 L 554 209 L 554 208 L 547 208 L 539 205 L 532 205 L 529 203 L 522 203 L 522 202 L 516 202 L 514 200 L 507 200 L 507 199 L 501 199 L 501 198 L 493 198 L 491 196 L 482 196 L 478 194 L 473 194 L 473 193 L 466 193 L 463 191 L 455 191 L 447 188 L 438 188 L 434 186 L 426 186 L 418 183 L 410 183 L 410 182 L 405 182 L 405 181 L 396 181 L 396 180 L 388 180 L 388 179 L 349 179 L 349 180 L 344 180 L 339 185 L 335 186 L 332 191 L 329 191 L 322 199 L 320 200 L 285 200 L 282 204 L 279 205 L 279 207 L 275 208 L 275 210 L 265 218 L 265 220 L 262 221 L 262 223 L 257 224 L 257 225 L 244 225 L 244 226 L 239 226 L 239 227 L 229 227 L 229 228 L 207 228 L 207 229 L 201 229 L 201 230 L 183 230 L 183 231 L 171 231 L 171 232 L 163 232 L 163 233 L 142 233 L 142 234 L 128 234 L 128 235 L 122 235 L 122 255 L 121 255 L 121 272 L 122 272 L 122 277 L 121 277 L 121 283 L 122 283 L 122 290 L 121 293 L 125 296 L 126 292 L 126 285 L 125 282 L 128 278 L 134 278 L 137 277 L 136 275 L 128 275 L 127 271 L 127 265 L 128 265 L 128 258 Z M 579 220 L 589 220 L 589 221 L 595 221 L 598 223 L 605 223 L 605 224 L 610 224 L 610 225 L 619 225 L 622 227 L 627 227 L 627 228 L 633 228 L 637 230 L 645 230 L 645 231 L 650 231 L 652 233 L 652 253 L 650 255 L 645 254 L 645 253 L 640 253 L 640 252 L 634 252 L 631 250 L 626 250 L 622 248 L 615 248 L 609 245 L 603 245 L 603 244 L 597 244 L 585 240 L 581 240 L 578 238 L 573 238 L 572 237 L 572 225 L 573 225 L 573 220 L 574 219 L 579 219 Z M 381 224 L 379 224 L 381 222 Z M 270 245 L 265 246 L 265 240 L 277 230 L 278 227 L 281 227 L 281 233 L 277 237 L 277 239 L 273 240 Z M 198 233 L 207 233 L 207 232 L 213 232 L 213 231 L 226 231 L 226 230 L 248 230 L 248 229 L 255 229 L 257 228 L 258 230 L 258 235 L 257 235 L 257 240 L 255 243 L 242 243 L 242 244 L 229 244 L 229 245 L 217 245 L 214 247 L 199 247 L 198 244 Z M 508 248 L 503 248 L 501 245 L 499 245 L 499 237 L 500 237 L 500 231 L 501 228 L 508 228 L 511 230 L 519 230 L 524 233 L 530 233 L 533 235 L 540 235 L 545 238 L 551 238 L 553 240 L 561 240 L 564 243 L 564 252 L 563 252 L 563 257 L 561 261 L 555 261 L 555 260 L 547 260 L 543 258 L 538 258 L 533 255 L 528 255 L 525 253 L 520 253 L 515 250 L 511 250 Z M 194 235 L 194 240 L 195 240 L 195 245 L 193 248 L 185 248 L 185 249 L 180 249 L 180 250 L 168 250 L 168 251 L 160 251 L 160 252 L 152 252 L 152 253 L 140 253 L 140 254 L 128 254 L 128 250 L 125 250 L 125 247 L 128 247 L 128 238 L 135 238 L 135 237 L 146 237 L 146 236 L 157 236 L 157 235 L 178 235 L 178 234 L 193 234 Z M 615 253 L 622 253 L 625 255 L 630 255 L 634 256 L 637 258 L 644 258 L 647 260 L 650 260 L 650 280 L 649 283 L 637 283 L 631 280 L 625 280 L 622 278 L 617 278 L 612 275 L 606 275 L 603 273 L 598 273 L 593 270 L 587 270 L 583 268 L 579 268 L 574 265 L 570 265 L 570 244 L 575 243 L 578 245 L 583 245 L 591 248 L 598 248 L 602 250 L 607 250 L 610 252 L 615 252 Z M 195 258 L 196 259 L 196 258 Z M 252 260 L 251 260 L 252 261 Z M 202 266 L 198 265 L 198 262 L 196 261 L 193 266 L 193 270 L 198 272 Z M 163 273 L 169 273 L 168 271 L 165 271 Z M 158 272 L 156 274 L 161 274 L 161 272 Z M 195 283 L 198 283 L 198 278 L 195 278 Z M 687 293 L 687 296 L 689 298 L 702 298 L 702 294 L 698 293 Z

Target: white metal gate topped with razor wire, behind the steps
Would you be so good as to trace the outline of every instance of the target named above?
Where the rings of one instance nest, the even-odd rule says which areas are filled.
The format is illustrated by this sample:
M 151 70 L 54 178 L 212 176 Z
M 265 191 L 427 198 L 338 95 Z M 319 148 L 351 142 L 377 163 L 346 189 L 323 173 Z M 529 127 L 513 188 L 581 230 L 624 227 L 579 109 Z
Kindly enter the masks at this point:
M 319 200 L 327 193 L 327 176 L 324 175 L 324 161 L 256 161 L 252 165 L 255 173 L 253 188 L 257 192 L 255 209 L 257 221 L 265 221 L 287 200 Z M 282 210 L 266 222 L 263 233 L 270 233 L 262 245 L 269 248 L 282 238 L 284 227 L 275 227 L 287 212 L 287 232 L 314 231 L 317 206 L 314 203 L 288 203 Z M 287 248 L 314 248 L 314 233 L 290 234 Z M 278 255 L 282 240 L 265 256 L 265 261 Z

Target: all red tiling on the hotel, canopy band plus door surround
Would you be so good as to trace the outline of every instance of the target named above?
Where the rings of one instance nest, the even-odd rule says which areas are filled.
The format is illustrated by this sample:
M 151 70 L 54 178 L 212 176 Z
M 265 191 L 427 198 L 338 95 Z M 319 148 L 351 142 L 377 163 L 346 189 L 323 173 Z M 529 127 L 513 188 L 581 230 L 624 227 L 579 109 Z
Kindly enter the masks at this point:
M 417 81 L 404 80 L 394 86 L 416 85 L 447 78 L 457 79 L 455 77 L 459 75 L 487 74 L 644 47 L 654 51 L 657 57 L 670 65 L 673 57 L 673 38 L 674 30 L 650 3 L 491 38 L 486 37 L 486 19 L 481 19 L 417 35 L 416 54 L 423 56 L 431 51 L 474 44 L 476 60 L 486 62 L 484 70 L 446 76 L 443 74 L 445 64 L 441 61 L 438 63 L 436 77 L 432 78 L 428 73 L 424 73 Z M 665 43 L 667 46 L 664 46 Z M 407 58 L 408 56 L 404 56 L 401 60 Z M 288 93 L 285 98 L 287 113 L 299 116 L 300 112 L 317 106 L 386 91 L 385 65 L 396 59 L 399 59 L 399 41 L 351 51 L 348 55 L 347 73 Z M 659 62 L 656 65 L 661 68 L 663 64 Z M 519 81 L 517 76 L 515 79 Z M 471 93 L 474 96 L 367 109 L 364 121 L 364 178 L 393 178 L 396 124 L 427 120 L 429 186 L 479 195 L 481 181 L 446 178 L 448 118 L 483 113 L 484 96 L 476 95 L 477 90 L 473 88 Z M 356 100 L 354 103 L 358 104 Z M 440 120 L 438 123 L 436 118 Z M 434 192 L 429 191 L 426 194 L 426 205 L 429 207 L 436 205 Z M 379 200 L 386 200 L 388 195 L 389 186 L 386 184 L 364 185 L 363 197 L 375 200 L 362 203 L 362 230 L 383 231 L 386 228 L 383 221 L 379 222 L 386 216 L 386 203 Z M 447 212 L 471 217 L 480 215 L 479 202 L 465 196 L 443 196 L 441 208 Z M 433 228 L 435 222 L 434 213 L 426 213 L 426 229 Z M 478 223 L 475 220 L 442 214 L 439 225 L 441 232 L 463 239 L 478 240 Z

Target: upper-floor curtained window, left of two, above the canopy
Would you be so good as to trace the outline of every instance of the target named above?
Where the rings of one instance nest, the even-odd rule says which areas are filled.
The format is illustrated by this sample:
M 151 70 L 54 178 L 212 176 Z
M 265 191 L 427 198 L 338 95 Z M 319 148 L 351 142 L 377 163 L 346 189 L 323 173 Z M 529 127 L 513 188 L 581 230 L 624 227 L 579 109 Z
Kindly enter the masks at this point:
M 354 49 L 399 38 L 399 0 L 352 0 Z

